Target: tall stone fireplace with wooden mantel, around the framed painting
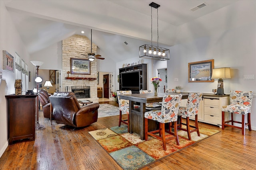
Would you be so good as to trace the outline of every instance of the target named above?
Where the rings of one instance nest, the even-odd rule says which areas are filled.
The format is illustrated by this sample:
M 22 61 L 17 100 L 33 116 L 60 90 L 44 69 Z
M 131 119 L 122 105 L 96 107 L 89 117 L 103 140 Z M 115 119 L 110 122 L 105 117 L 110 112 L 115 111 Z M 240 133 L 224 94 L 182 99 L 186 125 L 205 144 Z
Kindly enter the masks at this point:
M 97 46 L 92 43 L 92 53 L 96 53 Z M 72 35 L 62 41 L 62 87 L 61 91 L 74 92 L 77 98 L 90 98 L 98 100 L 97 97 L 97 59 L 90 62 L 90 74 L 69 74 L 70 59 L 87 59 L 87 53 L 91 52 L 91 41 L 82 35 Z M 82 55 L 84 54 L 84 55 Z

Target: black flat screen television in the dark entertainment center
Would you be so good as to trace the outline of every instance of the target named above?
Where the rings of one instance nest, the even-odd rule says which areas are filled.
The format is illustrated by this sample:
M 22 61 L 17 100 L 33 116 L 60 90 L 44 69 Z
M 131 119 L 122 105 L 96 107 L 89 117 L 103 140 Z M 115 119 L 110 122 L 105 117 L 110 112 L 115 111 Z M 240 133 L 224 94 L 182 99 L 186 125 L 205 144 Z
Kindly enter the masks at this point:
M 121 74 L 122 90 L 140 89 L 140 74 L 139 72 L 125 72 Z

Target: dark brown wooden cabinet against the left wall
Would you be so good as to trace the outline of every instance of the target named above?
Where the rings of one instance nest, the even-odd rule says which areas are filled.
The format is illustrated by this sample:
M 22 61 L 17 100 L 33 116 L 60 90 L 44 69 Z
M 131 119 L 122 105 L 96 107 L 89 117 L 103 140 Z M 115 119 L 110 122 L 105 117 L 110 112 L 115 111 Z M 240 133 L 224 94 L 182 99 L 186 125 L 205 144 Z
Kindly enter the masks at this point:
M 21 139 L 35 140 L 37 95 L 7 95 L 9 144 Z

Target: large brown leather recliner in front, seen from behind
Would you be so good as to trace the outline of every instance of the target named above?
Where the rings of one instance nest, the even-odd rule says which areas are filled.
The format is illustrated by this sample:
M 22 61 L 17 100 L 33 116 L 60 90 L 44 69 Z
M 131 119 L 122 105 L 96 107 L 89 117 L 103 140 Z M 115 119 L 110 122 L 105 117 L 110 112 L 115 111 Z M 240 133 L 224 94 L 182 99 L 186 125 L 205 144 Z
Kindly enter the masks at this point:
M 84 127 L 98 120 L 98 103 L 80 107 L 73 92 L 55 92 L 49 98 L 58 124 Z

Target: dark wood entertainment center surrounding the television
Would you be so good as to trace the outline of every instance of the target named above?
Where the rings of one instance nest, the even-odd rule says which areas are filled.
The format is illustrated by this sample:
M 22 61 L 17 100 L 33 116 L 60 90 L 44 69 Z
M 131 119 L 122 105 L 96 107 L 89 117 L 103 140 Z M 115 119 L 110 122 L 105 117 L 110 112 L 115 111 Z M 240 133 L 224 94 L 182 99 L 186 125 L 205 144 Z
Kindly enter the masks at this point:
M 119 90 L 147 90 L 147 64 L 119 68 Z

